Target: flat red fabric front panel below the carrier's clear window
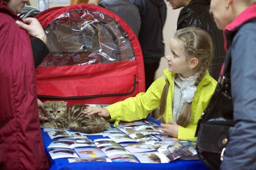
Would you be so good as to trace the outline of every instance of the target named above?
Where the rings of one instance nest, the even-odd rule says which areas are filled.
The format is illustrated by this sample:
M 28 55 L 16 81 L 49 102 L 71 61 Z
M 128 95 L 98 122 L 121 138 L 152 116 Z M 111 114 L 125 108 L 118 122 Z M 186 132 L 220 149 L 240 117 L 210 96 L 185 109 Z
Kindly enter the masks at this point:
M 120 71 L 121 70 L 121 71 Z M 137 61 L 95 64 L 84 66 L 50 66 L 36 69 L 38 95 L 49 97 L 97 98 L 97 96 L 119 97 L 132 94 L 137 84 Z M 134 92 L 133 92 L 134 91 Z M 121 95 L 121 96 L 120 96 Z M 130 96 L 130 95 L 129 95 Z M 134 96 L 134 95 L 133 95 Z M 106 98 L 106 97 L 105 97 Z M 95 99 L 97 102 L 97 99 Z M 106 103 L 106 102 L 104 102 Z

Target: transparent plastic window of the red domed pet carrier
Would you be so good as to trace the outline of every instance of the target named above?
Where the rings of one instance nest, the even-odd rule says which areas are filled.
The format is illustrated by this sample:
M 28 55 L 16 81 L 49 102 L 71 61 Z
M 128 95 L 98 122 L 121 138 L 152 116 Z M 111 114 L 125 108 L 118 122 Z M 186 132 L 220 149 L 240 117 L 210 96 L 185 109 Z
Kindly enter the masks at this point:
M 58 16 L 44 30 L 50 53 L 40 66 L 135 60 L 126 31 L 101 12 L 72 10 Z

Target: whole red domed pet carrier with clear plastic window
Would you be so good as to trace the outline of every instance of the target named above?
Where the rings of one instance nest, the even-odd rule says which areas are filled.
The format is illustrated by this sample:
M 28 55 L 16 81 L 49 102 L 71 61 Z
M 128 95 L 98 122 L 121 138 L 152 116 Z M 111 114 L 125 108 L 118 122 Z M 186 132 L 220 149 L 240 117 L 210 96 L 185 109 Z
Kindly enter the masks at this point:
M 145 91 L 139 41 L 112 11 L 79 4 L 49 8 L 35 18 L 50 51 L 36 68 L 40 100 L 113 104 Z

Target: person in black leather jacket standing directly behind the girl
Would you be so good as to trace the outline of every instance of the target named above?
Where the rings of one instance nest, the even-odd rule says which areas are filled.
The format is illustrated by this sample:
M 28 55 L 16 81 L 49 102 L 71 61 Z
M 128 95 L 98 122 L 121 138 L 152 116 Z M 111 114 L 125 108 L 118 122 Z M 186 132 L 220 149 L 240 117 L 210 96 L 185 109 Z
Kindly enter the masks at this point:
M 214 44 L 214 57 L 209 66 L 210 75 L 218 80 L 222 63 L 224 62 L 226 52 L 224 49 L 224 36 L 214 22 L 210 14 L 210 0 L 166 0 L 172 8 L 183 7 L 177 19 L 177 30 L 189 26 L 204 29 L 212 37 Z

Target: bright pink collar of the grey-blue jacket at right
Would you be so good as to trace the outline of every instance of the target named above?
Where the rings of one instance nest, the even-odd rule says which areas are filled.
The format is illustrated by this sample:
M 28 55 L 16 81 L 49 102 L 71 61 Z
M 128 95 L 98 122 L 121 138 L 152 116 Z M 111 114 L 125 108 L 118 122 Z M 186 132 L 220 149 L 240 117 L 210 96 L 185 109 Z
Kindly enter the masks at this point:
M 241 27 L 242 24 L 246 23 L 247 21 L 256 18 L 256 4 L 251 5 L 250 7 L 246 8 L 246 10 L 242 11 L 241 14 L 237 16 L 233 20 L 232 23 L 226 25 L 224 28 L 224 38 L 225 38 L 225 50 L 228 51 L 230 46 L 230 36 L 232 36 L 232 32 L 235 33 Z M 231 37 L 232 38 L 232 37 Z

